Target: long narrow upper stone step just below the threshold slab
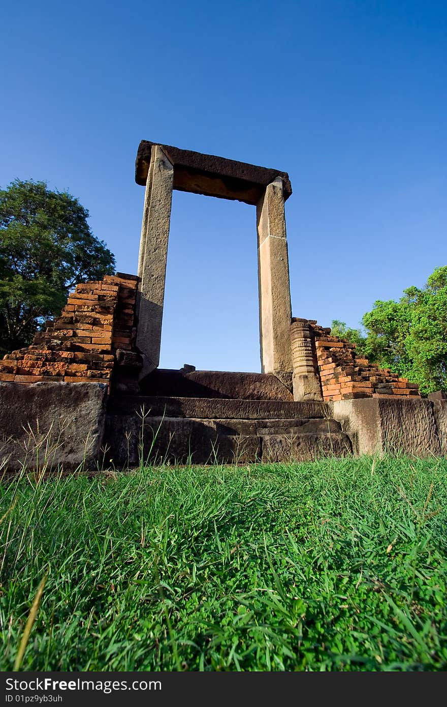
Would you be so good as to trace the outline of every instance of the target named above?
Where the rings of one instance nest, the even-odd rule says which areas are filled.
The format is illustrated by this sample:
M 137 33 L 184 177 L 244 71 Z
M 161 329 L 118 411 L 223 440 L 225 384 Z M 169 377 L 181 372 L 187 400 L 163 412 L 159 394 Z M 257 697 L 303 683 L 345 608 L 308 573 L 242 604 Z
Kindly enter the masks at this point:
M 286 400 L 244 400 L 226 398 L 161 397 L 148 395 L 112 396 L 110 414 L 186 417 L 193 419 L 314 419 L 328 418 L 325 402 Z

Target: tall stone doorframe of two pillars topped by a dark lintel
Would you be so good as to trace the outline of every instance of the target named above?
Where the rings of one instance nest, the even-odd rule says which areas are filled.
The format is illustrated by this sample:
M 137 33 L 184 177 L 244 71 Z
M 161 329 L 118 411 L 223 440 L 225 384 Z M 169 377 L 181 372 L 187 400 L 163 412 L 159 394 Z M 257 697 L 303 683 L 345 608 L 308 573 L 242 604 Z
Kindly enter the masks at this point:
M 292 187 L 287 173 L 143 140 L 136 158 L 136 182 L 145 185 L 136 340 L 144 355 L 142 377 L 160 361 L 172 189 L 256 206 L 261 370 L 291 374 L 284 203 Z

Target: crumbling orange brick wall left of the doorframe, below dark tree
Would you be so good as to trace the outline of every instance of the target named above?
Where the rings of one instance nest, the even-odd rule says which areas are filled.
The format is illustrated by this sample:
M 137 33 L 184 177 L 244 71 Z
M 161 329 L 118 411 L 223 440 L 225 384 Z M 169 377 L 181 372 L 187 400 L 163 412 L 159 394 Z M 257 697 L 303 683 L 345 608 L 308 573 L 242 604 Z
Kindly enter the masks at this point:
M 102 382 L 110 386 L 117 349 L 136 339 L 138 277 L 117 273 L 76 285 L 61 316 L 27 349 L 0 361 L 0 381 Z

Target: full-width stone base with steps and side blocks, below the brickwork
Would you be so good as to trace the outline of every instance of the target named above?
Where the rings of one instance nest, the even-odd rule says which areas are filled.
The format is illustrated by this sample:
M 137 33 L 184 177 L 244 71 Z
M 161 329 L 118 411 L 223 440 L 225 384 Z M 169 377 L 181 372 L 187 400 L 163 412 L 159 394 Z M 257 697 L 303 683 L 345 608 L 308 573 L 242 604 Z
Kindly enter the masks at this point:
M 11 472 L 395 452 L 439 457 L 447 453 L 447 400 L 110 395 L 100 382 L 0 382 L 0 443 L 0 470 Z

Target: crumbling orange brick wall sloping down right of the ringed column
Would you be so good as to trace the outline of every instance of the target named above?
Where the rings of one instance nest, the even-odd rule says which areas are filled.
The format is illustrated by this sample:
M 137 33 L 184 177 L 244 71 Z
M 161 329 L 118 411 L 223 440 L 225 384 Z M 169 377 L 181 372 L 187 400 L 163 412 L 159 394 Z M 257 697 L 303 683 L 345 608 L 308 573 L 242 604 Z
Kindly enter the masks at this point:
M 315 337 L 316 358 L 323 399 L 363 397 L 420 397 L 417 383 L 399 378 L 389 368 L 379 368 L 367 358 L 356 356 L 356 344 L 330 335 L 330 329 L 309 320 Z

